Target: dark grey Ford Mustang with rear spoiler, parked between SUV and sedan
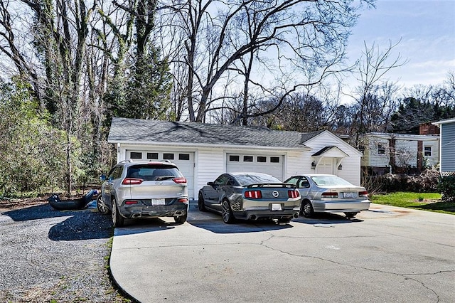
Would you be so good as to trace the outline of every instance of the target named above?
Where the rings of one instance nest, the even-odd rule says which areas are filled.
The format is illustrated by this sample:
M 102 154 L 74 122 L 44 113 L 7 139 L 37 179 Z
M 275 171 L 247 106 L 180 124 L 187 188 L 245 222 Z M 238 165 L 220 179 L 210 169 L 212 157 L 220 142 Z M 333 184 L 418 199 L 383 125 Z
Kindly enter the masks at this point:
M 299 217 L 300 194 L 294 185 L 267 174 L 222 174 L 200 189 L 198 208 L 220 213 L 225 223 L 235 219 L 289 223 Z

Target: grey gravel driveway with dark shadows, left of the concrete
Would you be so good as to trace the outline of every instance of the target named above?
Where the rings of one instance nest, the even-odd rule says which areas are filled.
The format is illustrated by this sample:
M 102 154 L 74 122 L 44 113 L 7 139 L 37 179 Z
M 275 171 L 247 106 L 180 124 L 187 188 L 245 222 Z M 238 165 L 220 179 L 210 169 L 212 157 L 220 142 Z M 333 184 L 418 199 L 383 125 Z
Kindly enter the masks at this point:
M 0 213 L 0 302 L 131 302 L 109 278 L 109 216 L 43 202 Z

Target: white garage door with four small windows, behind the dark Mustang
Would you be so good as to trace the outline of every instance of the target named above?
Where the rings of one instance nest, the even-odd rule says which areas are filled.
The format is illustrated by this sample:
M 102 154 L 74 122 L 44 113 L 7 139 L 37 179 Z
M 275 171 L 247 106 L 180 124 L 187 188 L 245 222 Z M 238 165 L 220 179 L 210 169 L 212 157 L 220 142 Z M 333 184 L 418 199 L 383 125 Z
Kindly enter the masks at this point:
M 269 174 L 283 181 L 284 156 L 258 154 L 227 154 L 226 171 L 251 171 Z

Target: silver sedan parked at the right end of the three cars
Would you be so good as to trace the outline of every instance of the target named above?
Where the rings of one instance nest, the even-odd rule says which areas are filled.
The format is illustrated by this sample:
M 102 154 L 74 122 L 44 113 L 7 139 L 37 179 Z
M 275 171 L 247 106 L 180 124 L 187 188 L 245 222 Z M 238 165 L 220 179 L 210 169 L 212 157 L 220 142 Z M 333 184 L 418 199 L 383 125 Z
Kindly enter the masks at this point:
M 301 174 L 284 183 L 294 184 L 301 195 L 301 215 L 311 218 L 314 213 L 344 213 L 354 218 L 370 208 L 365 187 L 350 184 L 331 174 Z

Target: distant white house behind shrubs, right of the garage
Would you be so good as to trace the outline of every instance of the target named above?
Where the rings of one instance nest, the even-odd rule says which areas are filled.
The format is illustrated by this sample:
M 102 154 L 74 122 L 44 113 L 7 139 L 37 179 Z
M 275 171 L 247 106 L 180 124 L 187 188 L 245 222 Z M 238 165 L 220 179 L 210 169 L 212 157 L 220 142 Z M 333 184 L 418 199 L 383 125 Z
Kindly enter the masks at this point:
M 370 132 L 360 137 L 368 174 L 419 172 L 439 164 L 439 136 Z

